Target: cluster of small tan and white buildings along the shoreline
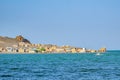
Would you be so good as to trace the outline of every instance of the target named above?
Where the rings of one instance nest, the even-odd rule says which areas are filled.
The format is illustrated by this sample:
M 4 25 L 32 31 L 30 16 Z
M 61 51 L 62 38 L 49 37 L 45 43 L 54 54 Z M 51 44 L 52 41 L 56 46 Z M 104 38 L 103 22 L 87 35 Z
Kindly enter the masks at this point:
M 0 52 L 5 53 L 85 53 L 85 52 L 105 52 L 106 48 L 99 50 L 92 50 L 86 48 L 76 48 L 71 46 L 57 46 L 51 44 L 30 44 L 25 42 L 19 42 L 18 45 L 12 45 L 12 47 L 0 48 Z

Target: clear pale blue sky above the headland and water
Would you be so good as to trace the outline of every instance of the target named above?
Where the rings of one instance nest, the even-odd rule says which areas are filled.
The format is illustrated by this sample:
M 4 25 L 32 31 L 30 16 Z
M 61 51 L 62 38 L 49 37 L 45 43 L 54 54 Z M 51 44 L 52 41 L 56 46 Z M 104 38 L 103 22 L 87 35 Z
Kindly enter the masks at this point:
M 120 50 L 120 0 L 0 0 L 0 36 Z

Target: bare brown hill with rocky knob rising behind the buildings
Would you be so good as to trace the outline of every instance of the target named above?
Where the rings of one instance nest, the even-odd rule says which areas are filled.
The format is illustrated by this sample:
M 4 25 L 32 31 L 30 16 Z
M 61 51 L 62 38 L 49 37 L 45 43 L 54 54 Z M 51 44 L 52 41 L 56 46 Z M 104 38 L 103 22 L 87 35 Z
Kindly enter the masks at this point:
M 30 43 L 29 40 L 25 39 L 21 35 L 16 36 L 16 38 L 0 36 L 0 47 L 12 47 L 13 45 L 17 45 L 19 42 Z

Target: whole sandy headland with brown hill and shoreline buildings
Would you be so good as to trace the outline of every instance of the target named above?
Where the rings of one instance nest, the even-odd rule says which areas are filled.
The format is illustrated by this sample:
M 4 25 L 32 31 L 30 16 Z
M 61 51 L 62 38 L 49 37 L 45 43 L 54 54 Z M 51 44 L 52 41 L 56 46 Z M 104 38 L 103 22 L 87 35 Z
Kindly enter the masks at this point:
M 21 35 L 15 38 L 0 36 L 1 53 L 94 53 L 106 52 L 106 48 L 99 50 L 72 47 L 69 45 L 57 46 L 54 44 L 33 44 Z

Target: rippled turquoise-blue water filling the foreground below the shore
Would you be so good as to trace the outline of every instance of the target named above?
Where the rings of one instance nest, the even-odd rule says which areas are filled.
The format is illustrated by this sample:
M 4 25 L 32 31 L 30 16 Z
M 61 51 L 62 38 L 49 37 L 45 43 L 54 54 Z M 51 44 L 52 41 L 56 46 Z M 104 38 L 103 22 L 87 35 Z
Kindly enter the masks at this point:
M 120 80 L 120 51 L 0 54 L 0 80 Z

